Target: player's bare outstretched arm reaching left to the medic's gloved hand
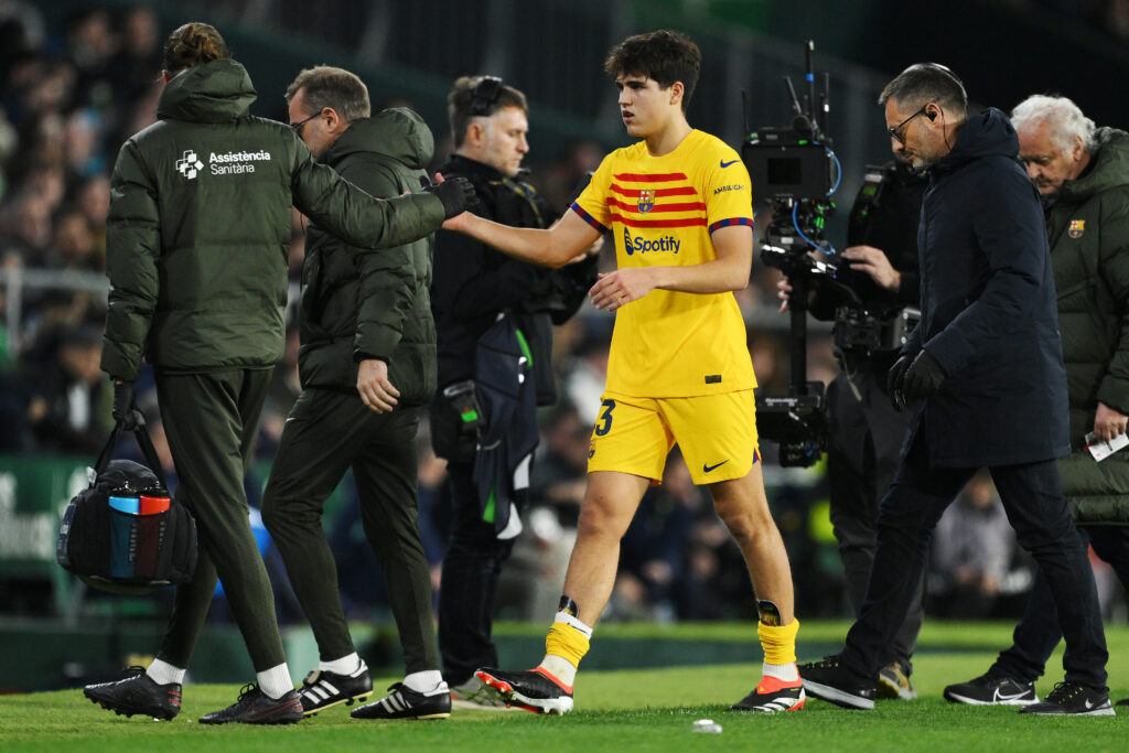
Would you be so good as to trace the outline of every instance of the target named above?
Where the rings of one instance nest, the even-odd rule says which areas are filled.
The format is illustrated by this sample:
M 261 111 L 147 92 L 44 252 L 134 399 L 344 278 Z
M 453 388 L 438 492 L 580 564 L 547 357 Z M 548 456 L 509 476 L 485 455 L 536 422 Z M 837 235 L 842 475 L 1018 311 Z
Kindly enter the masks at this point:
M 567 264 L 599 237 L 599 230 L 572 211 L 564 212 L 548 230 L 499 225 L 471 212 L 452 217 L 443 227 L 464 233 L 504 254 L 554 268 Z

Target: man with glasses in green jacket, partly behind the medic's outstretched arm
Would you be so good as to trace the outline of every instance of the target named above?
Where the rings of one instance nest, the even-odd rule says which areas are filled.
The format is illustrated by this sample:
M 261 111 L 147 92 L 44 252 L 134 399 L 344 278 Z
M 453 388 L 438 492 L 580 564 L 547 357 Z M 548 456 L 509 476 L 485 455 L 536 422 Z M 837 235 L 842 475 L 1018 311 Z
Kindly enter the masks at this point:
M 290 124 L 314 157 L 376 196 L 419 190 L 435 140 L 410 110 L 370 115 L 353 73 L 320 65 L 287 89 Z M 317 640 L 320 663 L 298 692 L 303 712 L 365 700 L 373 691 L 341 607 L 322 529 L 326 498 L 353 471 L 360 517 L 384 573 L 406 676 L 359 719 L 450 713 L 439 673 L 431 579 L 417 513 L 420 413 L 435 393 L 428 282 L 434 236 L 384 254 L 355 254 L 315 222 L 303 265 L 301 395 L 287 418 L 263 493 L 263 522 Z

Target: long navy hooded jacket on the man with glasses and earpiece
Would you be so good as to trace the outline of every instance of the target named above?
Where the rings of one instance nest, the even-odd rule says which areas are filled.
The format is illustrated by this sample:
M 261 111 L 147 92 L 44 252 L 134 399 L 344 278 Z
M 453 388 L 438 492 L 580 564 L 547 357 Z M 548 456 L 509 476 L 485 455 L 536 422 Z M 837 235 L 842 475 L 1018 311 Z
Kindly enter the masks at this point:
M 911 429 L 930 465 L 982 467 L 1069 452 L 1066 369 L 1039 194 L 1016 161 L 1019 141 L 990 108 L 968 119 L 934 165 L 921 208 L 922 347 L 945 380 Z

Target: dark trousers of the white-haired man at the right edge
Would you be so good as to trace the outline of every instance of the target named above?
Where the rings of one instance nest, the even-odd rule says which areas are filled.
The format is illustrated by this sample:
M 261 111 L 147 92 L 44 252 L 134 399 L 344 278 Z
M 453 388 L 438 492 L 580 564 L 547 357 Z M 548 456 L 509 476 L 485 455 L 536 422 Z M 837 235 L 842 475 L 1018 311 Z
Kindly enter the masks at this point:
M 1078 526 L 1083 541 L 1118 573 L 1121 585 L 1129 588 L 1129 526 Z M 991 671 L 1019 682 L 1035 682 L 1042 676 L 1059 641 L 1058 608 L 1042 572 L 1036 573 L 1023 620 L 1015 628 L 1012 647 L 1000 651 Z

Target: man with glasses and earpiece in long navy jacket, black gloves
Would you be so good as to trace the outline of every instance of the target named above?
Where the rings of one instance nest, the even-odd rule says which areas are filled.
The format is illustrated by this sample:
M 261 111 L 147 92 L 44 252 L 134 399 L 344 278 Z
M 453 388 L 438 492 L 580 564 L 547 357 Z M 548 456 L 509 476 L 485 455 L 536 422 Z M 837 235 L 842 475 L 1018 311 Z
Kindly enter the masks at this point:
M 933 529 L 988 467 L 1067 641 L 1065 682 L 1022 711 L 1112 715 L 1094 577 L 1056 462 L 1070 444 L 1053 269 L 1015 129 L 998 110 L 968 116 L 960 79 L 934 63 L 904 70 L 878 103 L 894 152 L 929 172 L 918 233 L 921 322 L 890 370 L 894 402 L 911 405 L 913 419 L 879 508 L 861 612 L 841 654 L 800 667 L 804 688 L 844 708 L 874 708 L 875 678 Z

